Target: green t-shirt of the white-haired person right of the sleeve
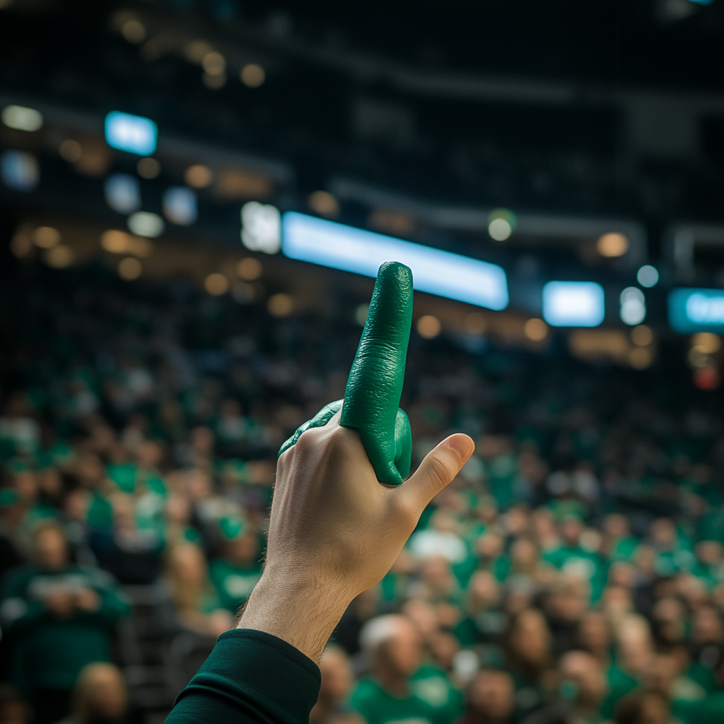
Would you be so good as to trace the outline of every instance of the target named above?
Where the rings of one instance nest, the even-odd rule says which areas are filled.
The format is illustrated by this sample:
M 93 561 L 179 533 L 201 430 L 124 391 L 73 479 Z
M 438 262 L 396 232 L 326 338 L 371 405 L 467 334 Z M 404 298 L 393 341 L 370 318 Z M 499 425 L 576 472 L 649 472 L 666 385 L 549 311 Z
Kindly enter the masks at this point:
M 360 681 L 350 700 L 367 724 L 449 724 L 439 711 L 411 691 L 393 696 L 374 679 Z

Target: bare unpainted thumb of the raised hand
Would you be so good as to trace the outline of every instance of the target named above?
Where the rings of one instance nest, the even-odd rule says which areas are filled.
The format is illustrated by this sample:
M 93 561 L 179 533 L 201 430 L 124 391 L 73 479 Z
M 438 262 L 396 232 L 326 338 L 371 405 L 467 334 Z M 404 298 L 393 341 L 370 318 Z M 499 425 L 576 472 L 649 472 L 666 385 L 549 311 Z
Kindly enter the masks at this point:
M 425 506 L 460 472 L 475 450 L 473 440 L 462 433 L 446 437 L 431 450 L 415 473 L 400 486 L 407 505 L 422 513 Z

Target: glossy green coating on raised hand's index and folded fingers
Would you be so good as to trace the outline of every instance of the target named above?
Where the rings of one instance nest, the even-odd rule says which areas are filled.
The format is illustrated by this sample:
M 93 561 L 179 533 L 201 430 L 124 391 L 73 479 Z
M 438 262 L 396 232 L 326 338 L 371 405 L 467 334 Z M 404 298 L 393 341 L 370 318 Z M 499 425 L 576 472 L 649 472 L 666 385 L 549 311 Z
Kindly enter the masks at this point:
M 412 272 L 388 261 L 377 274 L 345 399 L 330 403 L 300 426 L 279 455 L 305 430 L 326 425 L 341 407 L 340 424 L 359 433 L 377 479 L 399 485 L 410 474 L 412 455 L 410 422 L 398 407 L 411 324 Z

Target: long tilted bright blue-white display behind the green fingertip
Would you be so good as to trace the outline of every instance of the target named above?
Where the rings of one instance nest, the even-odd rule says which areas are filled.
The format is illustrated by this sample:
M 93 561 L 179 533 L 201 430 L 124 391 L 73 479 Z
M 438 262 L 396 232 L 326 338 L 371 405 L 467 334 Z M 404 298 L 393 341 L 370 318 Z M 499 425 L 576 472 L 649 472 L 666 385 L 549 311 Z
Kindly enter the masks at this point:
M 366 277 L 376 277 L 385 261 L 400 261 L 412 269 L 416 290 L 489 309 L 508 306 L 505 271 L 496 264 L 315 216 L 287 211 L 282 219 L 282 252 Z

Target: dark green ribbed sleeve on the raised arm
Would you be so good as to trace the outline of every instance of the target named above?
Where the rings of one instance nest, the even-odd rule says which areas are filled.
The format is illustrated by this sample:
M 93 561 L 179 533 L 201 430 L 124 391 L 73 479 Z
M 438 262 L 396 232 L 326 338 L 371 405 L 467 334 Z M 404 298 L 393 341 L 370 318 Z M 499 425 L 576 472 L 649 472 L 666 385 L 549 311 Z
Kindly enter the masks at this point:
M 277 636 L 235 628 L 177 696 L 167 724 L 308 724 L 317 665 Z

